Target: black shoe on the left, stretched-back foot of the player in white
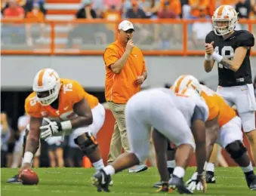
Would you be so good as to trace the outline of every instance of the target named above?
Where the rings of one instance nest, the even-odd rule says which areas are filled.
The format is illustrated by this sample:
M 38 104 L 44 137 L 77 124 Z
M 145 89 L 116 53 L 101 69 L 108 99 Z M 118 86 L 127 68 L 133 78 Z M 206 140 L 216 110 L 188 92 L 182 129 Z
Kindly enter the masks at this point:
M 97 191 L 109 192 L 109 183 L 111 182 L 111 176 L 106 175 L 104 170 L 97 171 L 94 176 L 91 177 L 91 184 L 97 187 Z

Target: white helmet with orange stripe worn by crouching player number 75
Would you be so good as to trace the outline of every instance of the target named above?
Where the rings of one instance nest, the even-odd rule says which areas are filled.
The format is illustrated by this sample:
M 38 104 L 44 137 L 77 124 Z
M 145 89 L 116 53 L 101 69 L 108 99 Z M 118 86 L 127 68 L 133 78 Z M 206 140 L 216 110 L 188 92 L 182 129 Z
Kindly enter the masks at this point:
M 49 106 L 60 92 L 60 77 L 54 69 L 41 69 L 35 75 L 33 90 L 42 106 Z

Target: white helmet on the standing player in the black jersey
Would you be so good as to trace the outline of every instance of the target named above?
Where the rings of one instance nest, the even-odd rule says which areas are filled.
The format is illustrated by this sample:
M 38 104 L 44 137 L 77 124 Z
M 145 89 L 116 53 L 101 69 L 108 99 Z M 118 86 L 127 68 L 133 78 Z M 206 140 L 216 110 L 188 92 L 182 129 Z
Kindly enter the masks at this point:
M 230 5 L 221 5 L 214 11 L 212 23 L 216 35 L 226 35 L 232 32 L 237 23 L 236 10 Z

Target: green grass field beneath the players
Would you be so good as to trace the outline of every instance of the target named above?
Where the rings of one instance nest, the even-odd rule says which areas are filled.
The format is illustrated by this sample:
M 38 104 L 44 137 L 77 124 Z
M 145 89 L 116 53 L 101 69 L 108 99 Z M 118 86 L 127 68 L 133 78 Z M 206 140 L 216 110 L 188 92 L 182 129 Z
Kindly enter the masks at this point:
M 187 170 L 186 180 L 191 176 L 195 168 Z M 256 167 L 254 168 L 256 170 Z M 35 169 L 39 175 L 39 185 L 9 185 L 6 180 L 17 173 L 17 169 L 1 169 L 1 192 L 2 196 L 147 196 L 147 195 L 180 195 L 176 191 L 172 193 L 155 193 L 152 188 L 154 182 L 159 180 L 156 168 L 150 168 L 143 173 L 128 173 L 128 170 L 113 176 L 114 185 L 109 193 L 97 192 L 91 185 L 90 178 L 94 169 L 85 168 L 39 168 Z M 245 183 L 244 175 L 239 167 L 217 167 L 217 183 L 208 185 L 206 195 L 232 195 L 232 196 L 255 196 L 256 191 L 250 191 Z M 194 191 L 196 195 L 201 194 Z

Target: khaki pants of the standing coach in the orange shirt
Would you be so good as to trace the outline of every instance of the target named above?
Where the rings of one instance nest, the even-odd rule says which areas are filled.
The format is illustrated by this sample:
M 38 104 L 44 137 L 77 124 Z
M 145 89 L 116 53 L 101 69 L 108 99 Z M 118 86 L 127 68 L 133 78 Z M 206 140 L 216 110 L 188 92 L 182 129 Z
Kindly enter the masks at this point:
M 107 162 L 113 162 L 121 155 L 122 148 L 125 152 L 130 150 L 125 126 L 125 104 L 108 102 L 109 109 L 116 119 L 114 132 L 110 142 Z

